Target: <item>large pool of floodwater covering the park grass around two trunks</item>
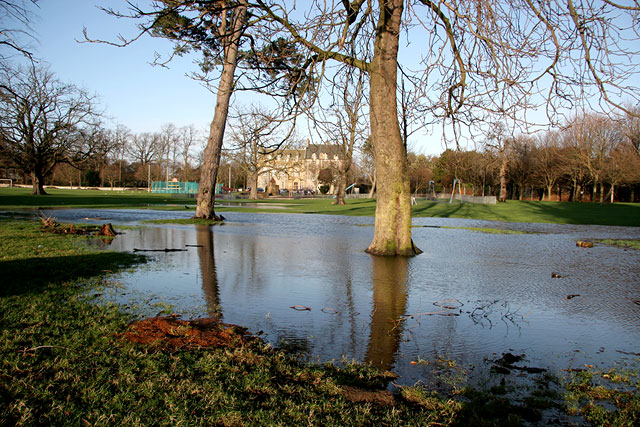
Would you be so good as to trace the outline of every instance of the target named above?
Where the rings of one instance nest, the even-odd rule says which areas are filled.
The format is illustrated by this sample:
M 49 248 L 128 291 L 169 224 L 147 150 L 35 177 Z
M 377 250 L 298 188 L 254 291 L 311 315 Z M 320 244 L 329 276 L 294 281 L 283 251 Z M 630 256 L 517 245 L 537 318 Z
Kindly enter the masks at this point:
M 55 214 L 137 224 L 192 212 Z M 638 228 L 416 218 L 413 239 L 424 253 L 403 259 L 364 252 L 373 218 L 224 215 L 213 227 L 145 224 L 117 236 L 109 249 L 185 251 L 147 252 L 149 264 L 116 278 L 124 285 L 116 299 L 148 315 L 161 301 L 189 317 L 218 314 L 307 360 L 367 361 L 404 384 L 427 381 L 433 366 L 421 361 L 438 358 L 473 371 L 511 352 L 559 371 L 640 353 L 640 251 L 575 244 L 637 239 Z

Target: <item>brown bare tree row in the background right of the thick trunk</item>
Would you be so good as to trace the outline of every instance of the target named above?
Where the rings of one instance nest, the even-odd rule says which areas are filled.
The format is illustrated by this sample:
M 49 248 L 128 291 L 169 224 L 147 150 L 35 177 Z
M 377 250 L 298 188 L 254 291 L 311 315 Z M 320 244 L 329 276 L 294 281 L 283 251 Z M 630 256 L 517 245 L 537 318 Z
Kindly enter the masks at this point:
M 640 196 L 640 119 L 584 114 L 562 129 L 505 137 L 491 133 L 474 150 L 446 150 L 439 157 L 410 154 L 411 185 L 429 181 L 450 191 L 460 179 L 470 193 L 523 200 L 636 201 Z

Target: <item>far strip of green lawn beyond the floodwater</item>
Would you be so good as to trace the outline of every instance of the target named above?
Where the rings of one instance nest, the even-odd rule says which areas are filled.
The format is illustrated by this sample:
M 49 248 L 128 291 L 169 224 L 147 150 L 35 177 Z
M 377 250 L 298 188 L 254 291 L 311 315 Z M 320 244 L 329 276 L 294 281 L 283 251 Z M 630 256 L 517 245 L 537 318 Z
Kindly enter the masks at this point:
M 20 208 L 153 208 L 195 209 L 195 199 L 146 192 L 98 190 L 48 190 L 48 196 L 32 196 L 27 189 L 0 189 L 0 209 Z M 221 201 L 219 212 L 314 213 L 326 215 L 373 216 L 375 200 L 348 199 L 335 206 L 332 199 L 267 199 Z M 250 206 L 242 204 L 250 203 Z M 414 217 L 471 218 L 506 222 L 557 224 L 599 224 L 640 227 L 640 204 L 508 201 L 496 205 L 432 202 L 420 200 L 413 206 Z

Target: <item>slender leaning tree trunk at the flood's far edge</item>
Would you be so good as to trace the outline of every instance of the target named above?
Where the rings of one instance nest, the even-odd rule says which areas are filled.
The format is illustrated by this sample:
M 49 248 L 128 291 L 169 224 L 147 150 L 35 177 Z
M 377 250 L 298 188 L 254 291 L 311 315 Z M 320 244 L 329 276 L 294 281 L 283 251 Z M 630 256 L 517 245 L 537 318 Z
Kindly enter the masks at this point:
M 216 179 L 218 178 L 224 129 L 227 124 L 229 102 L 231 94 L 233 93 L 233 80 L 238 64 L 238 46 L 242 35 L 242 26 L 244 24 L 246 11 L 247 8 L 246 5 L 244 5 L 239 6 L 233 12 L 233 28 L 229 30 L 230 43 L 224 48 L 224 62 L 220 83 L 218 85 L 216 108 L 211 126 L 209 127 L 209 139 L 207 140 L 207 147 L 204 150 L 204 160 L 200 173 L 200 186 L 198 188 L 195 218 L 221 220 L 214 211 Z

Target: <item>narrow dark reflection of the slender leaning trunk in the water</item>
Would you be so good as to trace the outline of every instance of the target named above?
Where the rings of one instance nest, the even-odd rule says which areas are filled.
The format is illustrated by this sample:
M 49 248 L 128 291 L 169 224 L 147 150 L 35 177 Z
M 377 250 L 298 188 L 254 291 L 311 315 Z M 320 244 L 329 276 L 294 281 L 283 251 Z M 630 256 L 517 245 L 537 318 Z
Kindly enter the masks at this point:
M 196 225 L 196 241 L 198 242 L 198 259 L 202 274 L 202 291 L 207 302 L 207 311 L 210 316 L 222 317 L 211 227 Z

